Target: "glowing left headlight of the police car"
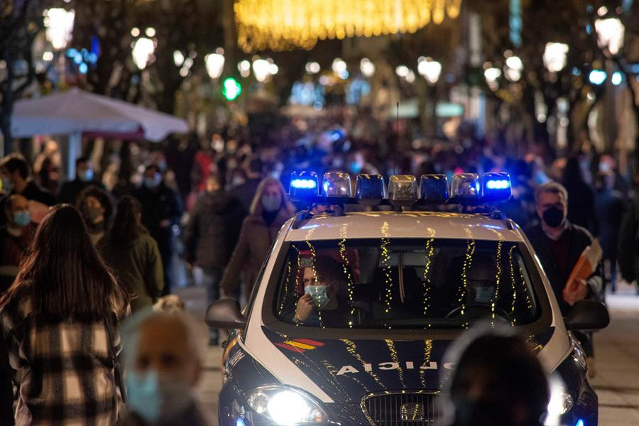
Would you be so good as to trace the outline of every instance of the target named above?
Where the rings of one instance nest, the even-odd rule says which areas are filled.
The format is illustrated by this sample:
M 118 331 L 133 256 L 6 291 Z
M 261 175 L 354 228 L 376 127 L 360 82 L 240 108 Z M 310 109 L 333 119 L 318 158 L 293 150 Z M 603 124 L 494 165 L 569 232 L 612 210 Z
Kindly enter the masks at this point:
M 324 410 L 307 395 L 287 386 L 261 386 L 246 398 L 251 408 L 278 425 L 317 425 L 327 422 Z

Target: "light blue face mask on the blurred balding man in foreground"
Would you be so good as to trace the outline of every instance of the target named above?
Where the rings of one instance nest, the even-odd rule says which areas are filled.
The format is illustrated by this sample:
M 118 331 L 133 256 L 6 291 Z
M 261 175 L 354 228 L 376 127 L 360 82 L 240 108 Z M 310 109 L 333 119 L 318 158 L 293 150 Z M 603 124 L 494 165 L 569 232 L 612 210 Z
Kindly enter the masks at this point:
M 182 378 L 160 379 L 158 372 L 128 371 L 127 405 L 150 425 L 170 422 L 185 414 L 193 402 L 191 388 Z

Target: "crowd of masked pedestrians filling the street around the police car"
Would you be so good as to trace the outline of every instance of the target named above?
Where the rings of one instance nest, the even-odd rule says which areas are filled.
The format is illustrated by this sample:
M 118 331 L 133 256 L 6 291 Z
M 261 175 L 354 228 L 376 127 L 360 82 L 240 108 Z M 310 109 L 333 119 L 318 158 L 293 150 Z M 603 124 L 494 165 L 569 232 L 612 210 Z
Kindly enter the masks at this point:
M 275 236 L 296 211 L 284 189 L 292 170 L 507 171 L 513 197 L 503 212 L 527 230 L 564 312 L 583 298 L 601 300 L 606 285 L 614 291 L 617 265 L 625 280 L 639 278 L 639 202 L 611 155 L 553 160 L 531 149 L 510 157 L 496 144 L 467 139 L 405 151 L 397 142 L 401 153 L 391 155 L 375 145 L 370 129 L 353 131 L 276 126 L 259 146 L 226 131 L 202 144 L 171 142 L 144 164 L 127 164 L 122 158 L 131 160 L 132 151 L 121 153 L 121 163 L 103 165 L 104 173 L 82 157 L 76 178 L 62 185 L 48 157 L 54 151 L 43 151 L 38 174 L 22 155 L 0 160 L 0 424 L 111 425 L 119 418 L 122 425 L 155 425 L 177 415 L 209 424 L 209 413 L 192 398 L 202 364 L 197 327 L 185 315 L 151 307 L 184 285 L 175 271 L 180 261 L 187 271 L 201 271 L 208 302 L 222 295 L 249 300 Z M 564 291 L 594 237 L 604 267 Z M 119 323 L 131 312 L 138 315 L 121 339 Z M 591 337 L 580 339 L 593 356 Z M 486 342 L 475 349 L 478 356 Z M 535 364 L 514 337 L 497 343 Z M 216 330 L 209 344 L 219 344 Z M 12 381 L 16 401 L 7 391 Z M 463 393 L 464 383 L 455 389 Z M 534 417 L 547 395 L 530 399 L 539 401 L 530 408 Z M 6 415 L 14 402 L 15 416 Z

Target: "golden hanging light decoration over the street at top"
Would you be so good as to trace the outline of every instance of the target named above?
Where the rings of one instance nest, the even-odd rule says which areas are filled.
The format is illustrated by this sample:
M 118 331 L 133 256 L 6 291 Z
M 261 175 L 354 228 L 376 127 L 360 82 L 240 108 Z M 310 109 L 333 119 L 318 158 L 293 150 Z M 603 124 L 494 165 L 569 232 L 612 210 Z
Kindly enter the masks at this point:
M 255 50 L 312 49 L 317 40 L 415 33 L 457 18 L 461 0 L 236 0 L 238 44 Z

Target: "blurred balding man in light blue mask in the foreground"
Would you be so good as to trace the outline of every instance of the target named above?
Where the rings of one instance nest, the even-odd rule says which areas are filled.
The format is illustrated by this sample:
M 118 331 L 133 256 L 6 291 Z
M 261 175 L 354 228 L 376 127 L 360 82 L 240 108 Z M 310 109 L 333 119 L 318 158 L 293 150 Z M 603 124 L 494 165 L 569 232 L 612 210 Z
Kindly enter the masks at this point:
M 184 312 L 144 310 L 124 325 L 124 383 L 129 407 L 122 426 L 209 426 L 197 403 L 204 335 Z M 204 342 L 205 343 L 205 342 Z

